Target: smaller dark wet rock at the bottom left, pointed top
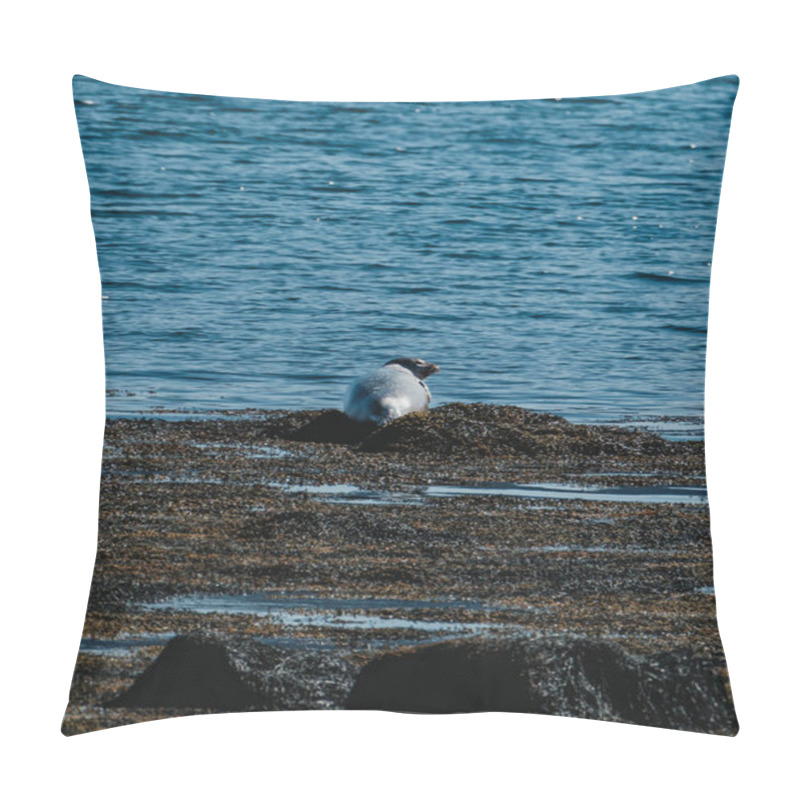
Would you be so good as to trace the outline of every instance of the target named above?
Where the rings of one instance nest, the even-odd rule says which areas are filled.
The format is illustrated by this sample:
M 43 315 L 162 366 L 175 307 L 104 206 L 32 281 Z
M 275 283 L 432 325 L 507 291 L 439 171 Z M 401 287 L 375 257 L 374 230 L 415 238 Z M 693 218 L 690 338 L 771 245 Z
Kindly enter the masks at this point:
M 172 639 L 110 706 L 215 711 L 341 707 L 355 668 L 336 655 L 193 632 Z

